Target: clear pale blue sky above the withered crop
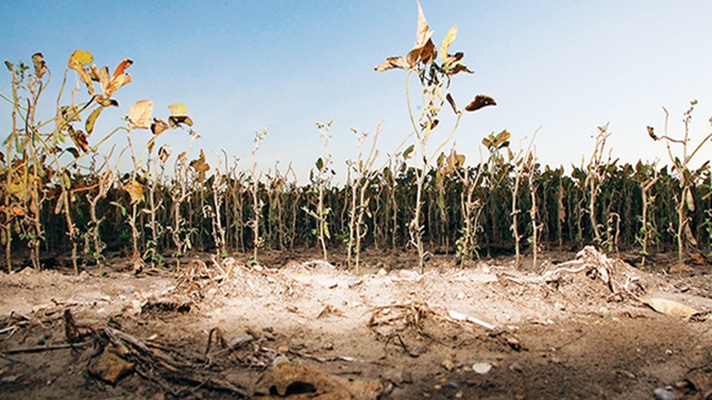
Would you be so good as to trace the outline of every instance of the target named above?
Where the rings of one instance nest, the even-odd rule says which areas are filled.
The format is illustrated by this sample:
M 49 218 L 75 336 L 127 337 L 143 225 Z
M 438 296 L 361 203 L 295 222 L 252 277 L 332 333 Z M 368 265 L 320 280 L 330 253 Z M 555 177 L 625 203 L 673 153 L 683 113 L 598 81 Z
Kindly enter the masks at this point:
M 663 143 L 653 142 L 645 126 L 662 132 L 664 106 L 670 132 L 682 134 L 682 112 L 692 99 L 700 101 L 693 138 L 699 141 L 711 129 L 712 1 L 422 0 L 422 6 L 436 46 L 451 26 L 459 28 L 451 49 L 464 51 L 464 63 L 475 73 L 454 78 L 458 104 L 476 93 L 498 103 L 463 119 L 456 148 L 469 163 L 479 161 L 486 134 L 507 129 L 516 148 L 542 127 L 536 138 L 542 163 L 580 164 L 591 154 L 596 127 L 609 121 L 613 158 L 664 161 Z M 330 150 L 344 180 L 345 161 L 356 157 L 349 128 L 373 133 L 384 120 L 384 153 L 409 132 L 406 72 L 374 67 L 413 47 L 416 20 L 415 0 L 6 0 L 0 58 L 31 63 L 32 53 L 42 52 L 53 72 L 44 99 L 50 108 L 73 50 L 92 52 L 97 64 L 111 70 L 128 57 L 135 61 L 134 82 L 116 93 L 120 108 L 101 116 L 101 129 L 121 124 L 136 100 L 154 100 L 162 117 L 168 104 L 182 102 L 201 136 L 191 158 L 202 148 L 215 166 L 225 150 L 240 159 L 239 169 L 248 169 L 254 132 L 268 128 L 260 168 L 279 161 L 284 172 L 291 161 L 301 182 L 324 151 L 315 123 L 334 120 Z M 10 92 L 9 80 L 3 69 L 2 93 Z M 454 121 L 445 116 L 443 137 Z M 9 121 L 10 107 L 2 102 L 3 137 Z M 149 136 L 132 133 L 137 142 Z M 185 150 L 186 137 L 170 131 L 161 139 L 176 154 Z M 117 142 L 123 146 L 125 136 Z M 699 158 L 712 158 L 712 143 Z

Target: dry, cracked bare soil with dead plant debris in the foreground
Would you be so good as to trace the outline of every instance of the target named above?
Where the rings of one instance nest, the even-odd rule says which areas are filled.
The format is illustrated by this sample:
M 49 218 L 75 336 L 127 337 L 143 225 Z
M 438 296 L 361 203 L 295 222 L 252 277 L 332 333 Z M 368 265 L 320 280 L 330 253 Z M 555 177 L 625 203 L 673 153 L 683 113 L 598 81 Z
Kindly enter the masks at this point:
M 421 276 L 367 253 L 355 276 L 332 258 L 0 274 L 1 397 L 712 398 L 709 263 L 437 256 Z

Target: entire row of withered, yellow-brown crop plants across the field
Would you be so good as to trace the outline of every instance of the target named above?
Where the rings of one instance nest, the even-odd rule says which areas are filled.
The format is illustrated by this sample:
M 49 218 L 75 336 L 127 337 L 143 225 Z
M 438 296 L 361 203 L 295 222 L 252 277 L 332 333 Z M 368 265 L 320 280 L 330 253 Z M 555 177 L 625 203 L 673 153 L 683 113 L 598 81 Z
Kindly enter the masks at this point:
M 515 254 L 518 266 L 525 251 L 536 264 L 541 249 L 589 243 L 611 252 L 635 249 L 641 267 L 653 252 L 675 249 L 681 267 L 689 252 L 711 252 L 709 161 L 691 166 L 712 133 L 692 142 L 695 101 L 683 116 L 682 137 L 669 134 L 668 122 L 663 134 L 647 128 L 652 140 L 666 146 L 669 166 L 612 159 L 607 126 L 594 136 L 589 161 L 568 172 L 541 164 L 536 133 L 516 147 L 506 130 L 484 138 L 479 162 L 467 163 L 447 144 L 465 111 L 496 103 L 477 94 L 464 109 L 456 106 L 451 80 L 472 73 L 462 64 L 462 52 L 449 53 L 456 34 L 455 26 L 436 49 L 418 7 L 414 48 L 376 67 L 407 71 L 414 138 L 380 157 L 380 127 L 373 136 L 353 130 L 357 152 L 346 161 L 343 184 L 334 183 L 330 122 L 317 123 L 324 156 L 316 160 L 309 182 L 299 184 L 290 166 L 276 163 L 260 172 L 256 154 L 268 140 L 267 130 L 255 132 L 247 168 L 226 153 L 210 166 L 201 149 L 190 159 L 199 136 L 181 103 L 171 104 L 164 119 L 154 116 L 151 101 L 139 100 L 129 108 L 125 124 L 95 132 L 101 112 L 118 107 L 115 92 L 131 82 L 131 60 L 122 60 L 110 73 L 93 64 L 91 53 L 75 51 L 56 112 L 46 120 L 36 116 L 51 80 L 42 54 L 36 53 L 32 64 L 6 61 L 12 76 L 11 93 L 0 93 L 12 106 L 11 131 L 0 152 L 0 240 L 7 270 L 27 262 L 21 259 L 39 270 L 42 253 L 69 253 L 76 271 L 96 264 L 101 273 L 106 254 L 117 251 L 137 266 L 166 266 L 170 257 L 180 268 L 180 258 L 190 251 L 250 253 L 250 261 L 259 262 L 267 249 L 319 249 L 324 259 L 343 249 L 356 271 L 366 248 L 414 250 L 421 268 L 433 252 L 453 254 L 464 266 L 483 253 L 505 251 Z M 419 81 L 418 116 L 411 102 L 412 76 Z M 75 89 L 65 93 L 72 83 Z M 428 151 L 431 133 L 445 124 L 441 120 L 447 117 L 441 111 L 447 109 L 454 114 L 452 131 Z M 132 134 L 144 129 L 152 137 L 136 147 Z M 190 137 L 188 148 L 176 157 L 168 143 L 159 146 L 171 129 Z M 119 132 L 126 134 L 126 144 L 108 148 L 108 140 Z M 130 171 L 118 170 L 125 159 L 131 161 Z

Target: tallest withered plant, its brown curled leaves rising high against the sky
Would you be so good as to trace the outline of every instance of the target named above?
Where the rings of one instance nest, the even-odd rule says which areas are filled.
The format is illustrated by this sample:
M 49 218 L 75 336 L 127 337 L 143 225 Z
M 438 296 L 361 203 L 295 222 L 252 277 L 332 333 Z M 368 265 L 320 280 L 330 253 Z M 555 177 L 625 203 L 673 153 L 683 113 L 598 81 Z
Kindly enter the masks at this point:
M 423 8 L 418 3 L 418 23 L 413 49 L 405 58 L 403 56 L 389 57 L 376 67 L 376 71 L 386 71 L 390 69 L 404 69 L 408 71 L 406 78 L 406 100 L 408 113 L 411 116 L 411 123 L 417 139 L 416 144 L 418 146 L 415 154 L 417 174 L 415 212 L 408 229 L 411 232 L 412 244 L 415 246 L 418 251 L 418 266 L 421 268 L 421 272 L 423 272 L 425 268 L 425 251 L 423 248 L 424 227 L 421 221 L 425 177 L 428 173 L 433 158 L 436 157 L 436 154 L 438 154 L 445 144 L 447 144 L 447 142 L 454 137 L 463 116 L 463 111 L 457 108 L 455 99 L 449 93 L 451 79 L 459 72 L 472 73 L 472 71 L 462 63 L 464 53 L 456 52 L 455 54 L 451 54 L 448 52 L 451 43 L 457 37 L 457 26 L 453 26 L 445 36 L 445 39 L 441 42 L 439 62 L 437 57 L 438 51 L 433 43 L 432 36 L 433 31 L 425 20 Z M 414 72 L 418 76 L 423 90 L 423 112 L 417 119 L 413 113 L 409 92 L 411 76 Z M 432 154 L 428 154 L 426 151 L 426 144 L 431 138 L 432 130 L 439 124 L 438 116 L 446 101 L 452 107 L 456 116 L 456 121 L 449 136 Z M 477 94 L 474 100 L 465 107 L 465 111 L 476 111 L 483 107 L 495 104 L 496 102 L 490 96 Z

